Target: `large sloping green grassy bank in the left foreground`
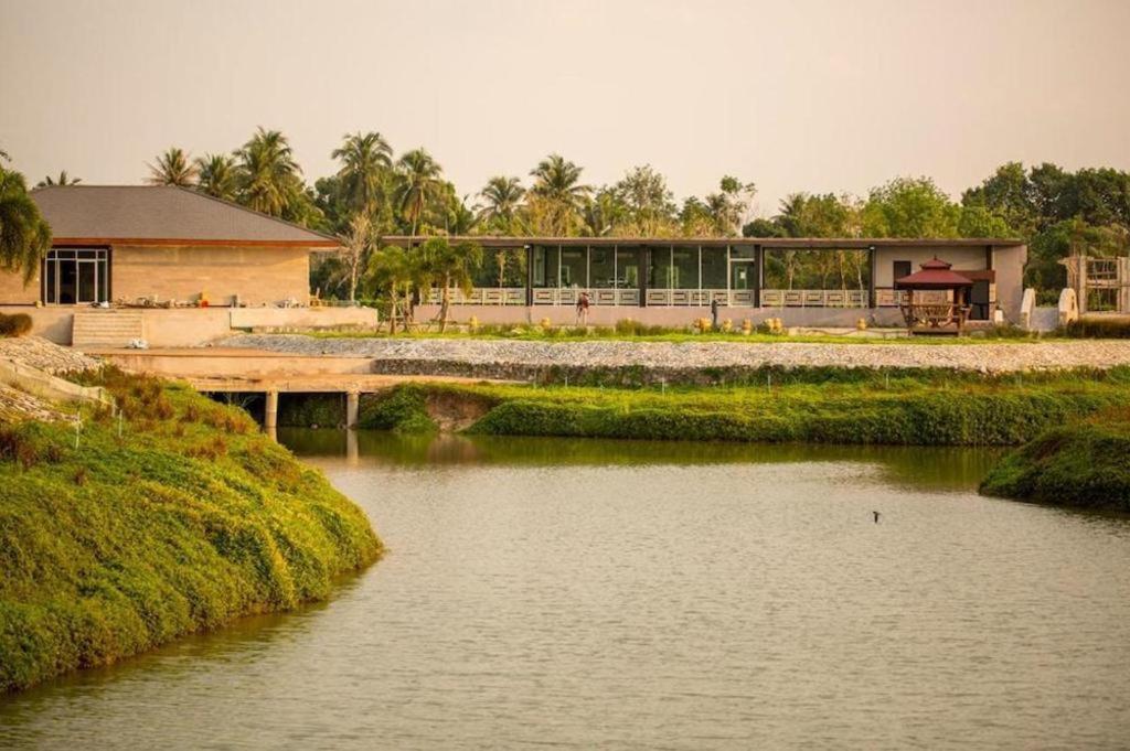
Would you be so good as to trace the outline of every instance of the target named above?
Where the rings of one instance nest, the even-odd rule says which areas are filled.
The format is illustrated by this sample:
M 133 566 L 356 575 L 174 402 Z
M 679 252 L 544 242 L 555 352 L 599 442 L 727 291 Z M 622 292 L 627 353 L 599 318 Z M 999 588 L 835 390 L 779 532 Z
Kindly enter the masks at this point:
M 0 691 L 325 597 L 381 543 L 243 412 L 120 374 L 123 419 L 0 425 Z

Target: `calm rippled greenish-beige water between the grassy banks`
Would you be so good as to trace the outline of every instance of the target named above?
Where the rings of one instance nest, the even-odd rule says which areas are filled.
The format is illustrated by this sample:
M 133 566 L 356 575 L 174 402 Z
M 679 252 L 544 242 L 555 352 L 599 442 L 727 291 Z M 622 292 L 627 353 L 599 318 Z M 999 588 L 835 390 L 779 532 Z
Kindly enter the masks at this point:
M 282 439 L 390 554 L 0 746 L 1130 746 L 1130 521 L 980 498 L 984 453 Z

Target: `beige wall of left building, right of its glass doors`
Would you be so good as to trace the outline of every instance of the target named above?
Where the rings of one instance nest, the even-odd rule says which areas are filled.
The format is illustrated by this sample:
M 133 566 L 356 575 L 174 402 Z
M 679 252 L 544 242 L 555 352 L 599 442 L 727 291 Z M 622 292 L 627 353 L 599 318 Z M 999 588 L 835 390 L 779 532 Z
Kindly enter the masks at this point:
M 211 305 L 275 305 L 310 299 L 310 251 L 303 247 L 114 246 L 112 297 L 194 302 Z

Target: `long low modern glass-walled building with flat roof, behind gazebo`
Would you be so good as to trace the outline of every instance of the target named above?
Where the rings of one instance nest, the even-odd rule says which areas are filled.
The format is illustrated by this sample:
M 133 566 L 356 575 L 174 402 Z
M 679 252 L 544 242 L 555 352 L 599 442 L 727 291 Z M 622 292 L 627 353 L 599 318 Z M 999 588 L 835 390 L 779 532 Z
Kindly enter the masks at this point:
M 424 239 L 384 242 L 407 247 Z M 894 311 L 894 280 L 937 256 L 974 279 L 974 320 L 988 320 L 998 306 L 1008 315 L 1015 307 L 1018 316 L 1027 257 L 1022 242 L 1007 238 L 450 239 L 477 243 L 485 254 L 473 291 L 453 292 L 454 302 L 529 308 L 573 306 L 588 292 L 597 307 L 687 308 L 716 302 L 755 311 Z

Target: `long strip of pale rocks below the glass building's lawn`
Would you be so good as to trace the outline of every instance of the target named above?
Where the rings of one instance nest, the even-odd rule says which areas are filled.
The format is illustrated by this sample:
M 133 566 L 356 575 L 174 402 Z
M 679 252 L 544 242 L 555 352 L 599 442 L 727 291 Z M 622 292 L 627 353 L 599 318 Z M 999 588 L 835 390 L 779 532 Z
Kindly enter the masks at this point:
M 492 339 L 315 338 L 244 334 L 225 347 L 295 355 L 372 357 L 381 373 L 525 377 L 537 369 L 635 368 L 660 374 L 709 369 L 942 368 L 1014 373 L 1130 366 L 1130 341 L 1016 343 L 510 341 Z

